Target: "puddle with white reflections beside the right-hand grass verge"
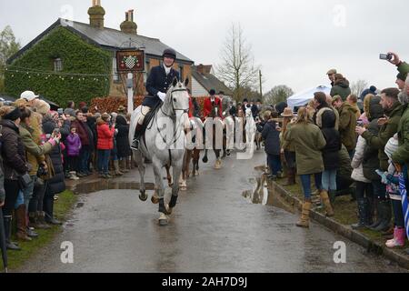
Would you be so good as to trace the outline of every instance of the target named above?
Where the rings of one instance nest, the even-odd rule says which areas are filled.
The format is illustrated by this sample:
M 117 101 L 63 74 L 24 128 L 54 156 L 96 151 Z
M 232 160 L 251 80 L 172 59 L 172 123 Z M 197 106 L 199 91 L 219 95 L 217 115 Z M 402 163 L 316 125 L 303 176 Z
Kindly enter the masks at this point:
M 242 196 L 252 204 L 274 206 L 292 214 L 297 213 L 296 207 L 278 195 L 274 190 L 273 183 L 263 175 L 264 166 L 254 167 L 254 170 L 258 172 L 257 176 L 249 179 L 253 189 L 244 191 Z

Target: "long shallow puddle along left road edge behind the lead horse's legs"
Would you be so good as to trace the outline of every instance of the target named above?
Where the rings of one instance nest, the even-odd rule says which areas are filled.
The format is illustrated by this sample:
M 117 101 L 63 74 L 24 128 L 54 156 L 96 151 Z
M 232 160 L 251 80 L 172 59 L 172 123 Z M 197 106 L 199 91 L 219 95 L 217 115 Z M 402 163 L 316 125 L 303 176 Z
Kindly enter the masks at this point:
M 104 190 L 137 190 L 139 191 L 140 184 L 136 182 L 115 182 L 110 180 L 105 181 L 94 181 L 84 184 L 78 184 L 75 186 L 74 192 L 76 194 L 90 194 L 94 192 L 104 191 Z M 155 190 L 155 184 L 145 183 L 146 190 Z M 79 203 L 77 208 L 80 206 Z

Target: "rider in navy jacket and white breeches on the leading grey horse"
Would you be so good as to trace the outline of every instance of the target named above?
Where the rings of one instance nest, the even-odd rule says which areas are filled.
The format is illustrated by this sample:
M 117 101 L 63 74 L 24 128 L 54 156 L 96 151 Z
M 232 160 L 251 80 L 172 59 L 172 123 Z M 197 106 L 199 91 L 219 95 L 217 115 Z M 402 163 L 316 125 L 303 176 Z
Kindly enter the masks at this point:
M 176 52 L 172 48 L 165 49 L 163 53 L 164 64 L 152 68 L 148 79 L 146 81 L 146 91 L 149 95 L 145 96 L 142 103 L 141 113 L 138 123 L 135 128 L 134 141 L 131 148 L 138 150 L 139 140 L 143 135 L 145 115 L 147 115 L 152 108 L 160 105 L 165 101 L 166 93 L 172 85 L 175 77 L 180 80 L 179 72 L 172 66 L 175 64 Z

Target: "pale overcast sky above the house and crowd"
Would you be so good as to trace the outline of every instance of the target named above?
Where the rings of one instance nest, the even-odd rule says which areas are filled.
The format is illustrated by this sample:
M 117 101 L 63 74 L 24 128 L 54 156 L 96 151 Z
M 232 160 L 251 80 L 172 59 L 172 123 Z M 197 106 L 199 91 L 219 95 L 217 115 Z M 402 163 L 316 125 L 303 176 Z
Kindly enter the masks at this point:
M 88 23 L 91 0 L 0 0 L 0 29 L 11 25 L 26 45 L 58 17 Z M 289 85 L 295 92 L 328 85 L 337 68 L 351 82 L 395 86 L 393 65 L 380 53 L 409 60 L 407 0 L 102 0 L 105 26 L 119 29 L 135 9 L 138 34 L 160 38 L 196 64 L 220 62 L 232 23 L 242 25 L 255 62 L 262 65 L 264 92 Z

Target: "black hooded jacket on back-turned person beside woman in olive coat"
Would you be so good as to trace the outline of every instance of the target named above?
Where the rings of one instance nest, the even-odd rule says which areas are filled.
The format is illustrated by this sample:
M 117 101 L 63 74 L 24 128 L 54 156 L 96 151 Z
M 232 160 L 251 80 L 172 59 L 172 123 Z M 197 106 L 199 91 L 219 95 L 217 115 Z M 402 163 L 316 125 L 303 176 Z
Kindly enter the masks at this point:
M 339 167 L 339 151 L 341 150 L 341 136 L 339 132 L 334 128 L 336 121 L 336 115 L 334 111 L 327 110 L 322 116 L 322 125 L 326 146 L 322 150 L 324 169 L 325 170 L 336 170 Z

